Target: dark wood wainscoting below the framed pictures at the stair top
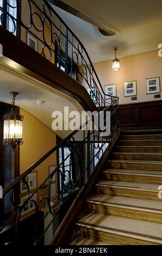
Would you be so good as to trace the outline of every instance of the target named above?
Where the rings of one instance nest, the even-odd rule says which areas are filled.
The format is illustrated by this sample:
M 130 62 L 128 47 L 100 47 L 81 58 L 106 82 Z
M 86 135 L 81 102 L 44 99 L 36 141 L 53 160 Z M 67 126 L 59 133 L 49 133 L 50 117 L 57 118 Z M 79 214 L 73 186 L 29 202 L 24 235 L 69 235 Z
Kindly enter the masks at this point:
M 162 129 L 162 100 L 120 105 L 119 119 L 122 130 Z

